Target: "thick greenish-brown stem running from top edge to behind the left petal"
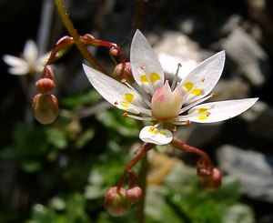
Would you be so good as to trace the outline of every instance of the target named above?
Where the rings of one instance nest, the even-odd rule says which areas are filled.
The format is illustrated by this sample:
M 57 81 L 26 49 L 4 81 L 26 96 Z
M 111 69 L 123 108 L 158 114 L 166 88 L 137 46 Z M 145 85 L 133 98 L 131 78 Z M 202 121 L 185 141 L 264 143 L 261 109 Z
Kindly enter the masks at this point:
M 94 58 L 94 56 L 92 56 L 90 54 L 90 52 L 87 50 L 86 46 L 81 42 L 81 36 L 78 35 L 78 33 L 76 32 L 76 29 L 75 29 L 74 25 L 72 24 L 67 12 L 66 12 L 64 1 L 63 0 L 55 0 L 55 4 L 56 4 L 56 8 L 62 18 L 63 23 L 66 26 L 66 29 L 67 29 L 69 35 L 71 35 L 72 38 L 74 39 L 75 45 L 78 48 L 78 50 L 80 51 L 80 53 L 82 54 L 82 56 L 85 57 L 86 61 L 91 66 L 93 66 L 95 69 L 106 74 L 107 73 L 106 70 L 96 62 L 96 59 Z

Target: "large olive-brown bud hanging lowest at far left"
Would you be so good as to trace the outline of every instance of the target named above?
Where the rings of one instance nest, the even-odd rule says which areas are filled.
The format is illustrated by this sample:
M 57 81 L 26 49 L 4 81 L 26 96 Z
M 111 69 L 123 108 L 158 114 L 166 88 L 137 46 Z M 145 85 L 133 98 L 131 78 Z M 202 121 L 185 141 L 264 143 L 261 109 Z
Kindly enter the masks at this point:
M 56 96 L 49 94 L 36 95 L 33 98 L 32 110 L 38 122 L 44 125 L 53 123 L 59 111 Z

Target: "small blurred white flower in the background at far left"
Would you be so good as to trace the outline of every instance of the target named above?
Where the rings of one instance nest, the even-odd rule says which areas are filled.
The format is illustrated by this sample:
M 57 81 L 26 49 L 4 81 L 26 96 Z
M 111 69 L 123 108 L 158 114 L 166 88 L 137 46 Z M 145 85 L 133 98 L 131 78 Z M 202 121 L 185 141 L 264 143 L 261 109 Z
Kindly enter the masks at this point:
M 27 75 L 42 72 L 50 53 L 38 56 L 38 49 L 33 40 L 25 43 L 22 58 L 5 55 L 3 60 L 9 66 L 8 72 L 12 75 Z

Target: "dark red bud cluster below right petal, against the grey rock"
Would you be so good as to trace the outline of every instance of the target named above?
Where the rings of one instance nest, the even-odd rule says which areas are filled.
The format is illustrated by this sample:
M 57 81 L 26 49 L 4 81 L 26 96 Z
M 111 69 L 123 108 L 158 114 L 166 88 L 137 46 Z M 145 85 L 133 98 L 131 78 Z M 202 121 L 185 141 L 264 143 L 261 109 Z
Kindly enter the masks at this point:
M 201 188 L 217 190 L 221 187 L 222 174 L 217 167 L 213 167 L 208 157 L 200 157 L 197 161 L 197 176 Z

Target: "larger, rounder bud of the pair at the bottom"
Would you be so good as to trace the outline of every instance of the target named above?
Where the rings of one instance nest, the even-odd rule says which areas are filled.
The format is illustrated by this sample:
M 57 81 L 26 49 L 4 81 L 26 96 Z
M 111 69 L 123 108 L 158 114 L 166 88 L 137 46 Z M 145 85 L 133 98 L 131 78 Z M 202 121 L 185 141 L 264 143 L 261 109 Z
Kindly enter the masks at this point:
M 109 188 L 106 191 L 104 206 L 107 212 L 114 216 L 124 216 L 131 206 L 130 200 L 126 197 L 125 188 Z

